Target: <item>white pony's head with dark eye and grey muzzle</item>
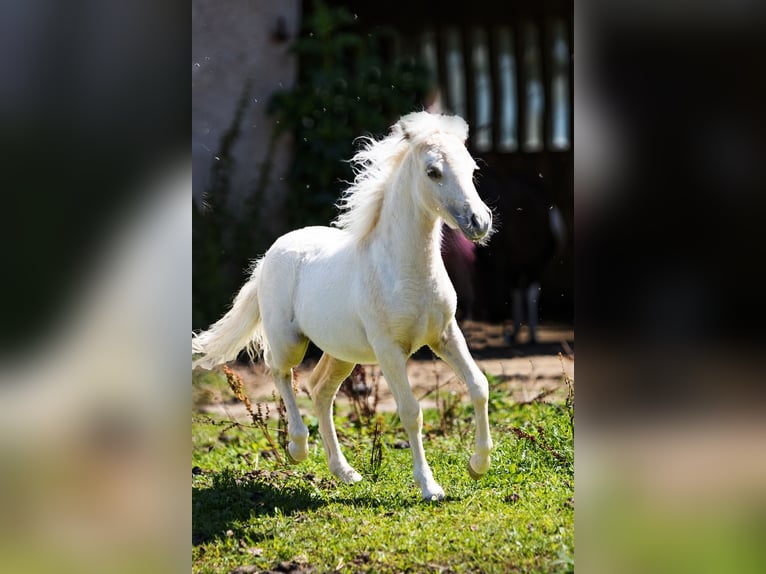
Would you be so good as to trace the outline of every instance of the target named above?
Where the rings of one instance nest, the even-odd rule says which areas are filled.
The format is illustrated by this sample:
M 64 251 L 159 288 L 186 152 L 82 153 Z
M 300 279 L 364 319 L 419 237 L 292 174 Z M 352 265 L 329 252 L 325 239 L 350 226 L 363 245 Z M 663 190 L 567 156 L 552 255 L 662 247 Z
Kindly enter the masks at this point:
M 473 183 L 478 166 L 465 147 L 465 121 L 419 112 L 404 116 L 400 127 L 416 152 L 414 169 L 421 202 L 471 241 L 486 239 L 492 230 L 492 212 Z

